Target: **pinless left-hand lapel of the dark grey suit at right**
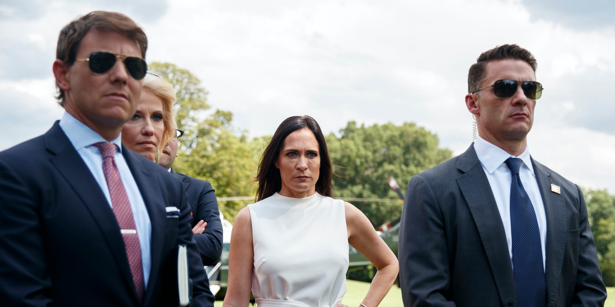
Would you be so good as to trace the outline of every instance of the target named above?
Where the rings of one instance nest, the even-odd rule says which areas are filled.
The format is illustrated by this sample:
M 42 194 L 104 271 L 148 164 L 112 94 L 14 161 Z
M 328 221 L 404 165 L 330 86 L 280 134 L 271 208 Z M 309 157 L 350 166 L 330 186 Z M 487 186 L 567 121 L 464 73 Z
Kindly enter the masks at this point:
M 463 174 L 457 177 L 457 184 L 474 218 L 499 295 L 502 300 L 515 297 L 514 274 L 504 225 L 474 144 L 459 156 L 458 169 Z

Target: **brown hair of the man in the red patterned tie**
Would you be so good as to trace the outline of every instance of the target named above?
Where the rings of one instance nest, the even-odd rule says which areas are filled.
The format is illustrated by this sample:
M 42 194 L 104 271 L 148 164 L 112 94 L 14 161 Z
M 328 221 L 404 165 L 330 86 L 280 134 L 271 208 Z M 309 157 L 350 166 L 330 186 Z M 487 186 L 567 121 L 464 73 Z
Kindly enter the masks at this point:
M 90 29 L 115 32 L 132 39 L 141 48 L 141 57 L 145 59 L 145 51 L 148 49 L 148 39 L 135 21 L 132 21 L 132 19 L 124 14 L 103 12 L 100 10 L 90 12 L 89 14 L 71 21 L 71 23 L 60 31 L 55 58 L 62 60 L 62 62 L 68 66 L 72 66 L 76 60 L 79 44 Z M 57 83 L 55 84 L 55 88 L 57 88 L 58 91 L 58 96 L 55 98 L 58 99 L 58 104 L 60 104 L 60 106 L 64 106 L 64 90 L 58 87 Z

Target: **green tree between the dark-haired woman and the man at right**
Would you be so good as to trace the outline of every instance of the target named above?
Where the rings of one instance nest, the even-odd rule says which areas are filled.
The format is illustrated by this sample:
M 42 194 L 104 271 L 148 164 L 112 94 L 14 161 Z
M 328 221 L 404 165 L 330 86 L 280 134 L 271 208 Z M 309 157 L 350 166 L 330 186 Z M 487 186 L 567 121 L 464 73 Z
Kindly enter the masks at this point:
M 340 176 L 334 177 L 334 189 L 341 199 L 398 198 L 387 183 L 389 177 L 395 177 L 405 192 L 411 176 L 451 157 L 450 150 L 438 148 L 435 134 L 415 123 L 357 126 L 349 122 L 339 132 L 339 138 L 333 133 L 327 136 L 327 147 L 331 163 L 336 165 L 334 171 Z M 375 227 L 402 212 L 400 203 L 353 204 Z

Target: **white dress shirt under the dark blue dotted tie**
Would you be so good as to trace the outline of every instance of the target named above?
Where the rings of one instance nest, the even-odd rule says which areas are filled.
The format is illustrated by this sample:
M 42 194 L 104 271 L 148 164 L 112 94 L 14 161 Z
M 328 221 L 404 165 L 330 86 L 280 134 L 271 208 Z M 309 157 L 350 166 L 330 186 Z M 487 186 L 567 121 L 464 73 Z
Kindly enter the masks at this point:
M 510 264 L 512 265 L 512 235 L 510 235 L 510 184 L 512 181 L 512 174 L 506 165 L 506 159 L 514 156 L 505 152 L 498 146 L 485 141 L 485 139 L 482 139 L 480 136 L 477 136 L 474 142 L 474 150 L 476 151 L 480 165 L 483 166 L 483 170 L 491 186 L 491 191 L 498 205 L 498 211 L 502 218 L 502 223 L 504 224 L 504 232 L 506 233 Z M 523 188 L 525 188 L 525 192 L 530 196 L 530 200 L 534 206 L 534 212 L 536 213 L 542 247 L 542 267 L 544 269 L 546 263 L 545 243 L 547 241 L 547 216 L 544 211 L 544 203 L 542 203 L 542 196 L 538 188 L 536 175 L 534 175 L 534 168 L 528 148 L 525 147 L 523 153 L 514 158 L 520 158 L 523 161 L 519 168 L 519 177 L 523 184 Z

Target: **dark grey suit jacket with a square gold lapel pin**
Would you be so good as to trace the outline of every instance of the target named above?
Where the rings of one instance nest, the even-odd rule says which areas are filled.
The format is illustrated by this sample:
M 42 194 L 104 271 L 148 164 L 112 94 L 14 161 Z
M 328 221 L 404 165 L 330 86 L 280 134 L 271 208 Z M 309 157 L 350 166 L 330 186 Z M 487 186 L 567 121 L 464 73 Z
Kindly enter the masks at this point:
M 547 218 L 547 306 L 603 306 L 581 190 L 532 163 Z M 474 145 L 410 179 L 401 223 L 404 306 L 517 306 L 504 225 Z

